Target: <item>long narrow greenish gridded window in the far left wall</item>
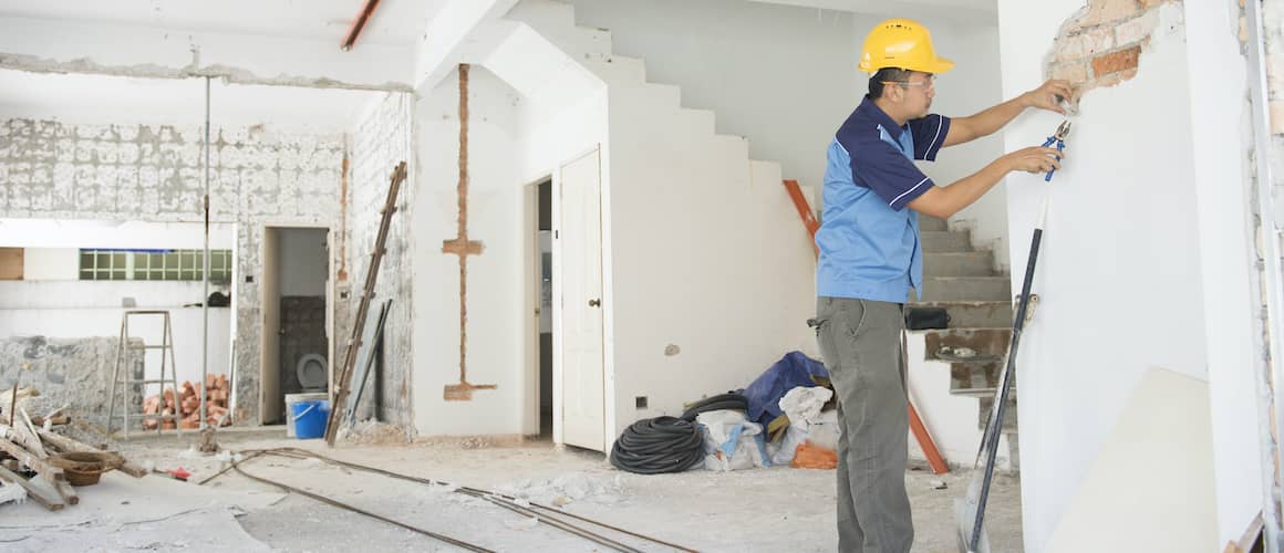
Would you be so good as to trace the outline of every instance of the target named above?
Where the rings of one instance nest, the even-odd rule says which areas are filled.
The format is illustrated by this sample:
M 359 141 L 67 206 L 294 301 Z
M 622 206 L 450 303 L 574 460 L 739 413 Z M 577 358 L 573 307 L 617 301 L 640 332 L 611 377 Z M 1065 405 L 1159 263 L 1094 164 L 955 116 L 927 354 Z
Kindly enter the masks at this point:
M 203 250 L 81 250 L 81 280 L 204 280 Z M 209 281 L 232 278 L 232 251 L 209 250 Z

